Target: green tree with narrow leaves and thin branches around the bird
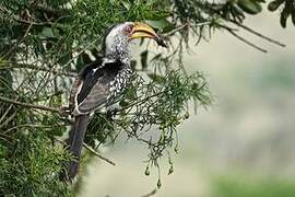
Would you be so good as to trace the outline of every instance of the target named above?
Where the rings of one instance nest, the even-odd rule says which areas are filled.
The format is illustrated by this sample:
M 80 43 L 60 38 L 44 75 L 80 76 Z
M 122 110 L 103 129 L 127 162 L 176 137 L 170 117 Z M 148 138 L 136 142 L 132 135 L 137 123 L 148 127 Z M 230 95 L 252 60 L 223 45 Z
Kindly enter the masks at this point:
M 119 111 L 94 115 L 85 155 L 113 163 L 97 148 L 126 135 L 150 150 L 145 174 L 151 166 L 160 169 L 160 157 L 169 159 L 177 152 L 176 127 L 189 117 L 190 101 L 197 108 L 211 104 L 205 78 L 201 72 L 187 74 L 182 51 L 190 49 L 189 42 L 197 46 L 210 39 L 214 31 L 226 31 L 267 51 L 241 37 L 237 28 L 284 46 L 244 24 L 248 15 L 262 11 L 262 4 L 264 0 L 1 0 L 0 194 L 71 195 L 68 184 L 58 178 L 62 163 L 71 159 L 61 148 L 60 137 L 71 123 L 63 106 L 73 77 L 99 56 L 105 30 L 122 21 L 145 21 L 162 33 L 169 50 L 153 54 L 146 47 L 140 63 L 133 61 L 133 69 L 142 74 L 134 74 Z M 281 25 L 285 27 L 290 18 L 295 25 L 294 0 L 268 3 L 270 11 L 279 8 Z M 172 173 L 170 159 L 168 164 Z

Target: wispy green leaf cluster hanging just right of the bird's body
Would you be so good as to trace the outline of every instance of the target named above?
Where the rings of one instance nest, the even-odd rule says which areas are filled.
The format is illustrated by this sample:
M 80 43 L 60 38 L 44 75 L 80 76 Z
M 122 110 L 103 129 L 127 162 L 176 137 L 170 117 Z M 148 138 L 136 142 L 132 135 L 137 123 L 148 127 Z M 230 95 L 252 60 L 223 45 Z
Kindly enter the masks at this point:
M 186 77 L 181 70 L 165 76 L 153 73 L 151 78 L 146 81 L 134 76 L 119 102 L 120 108 L 94 116 L 86 134 L 88 143 L 99 146 L 97 139 L 115 141 L 122 132 L 128 139 L 145 143 L 149 161 L 156 165 L 164 151 L 177 151 L 176 127 L 189 117 L 189 101 L 196 107 L 210 105 L 206 81 L 201 73 Z

